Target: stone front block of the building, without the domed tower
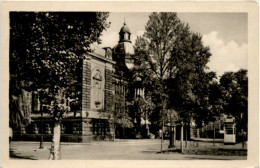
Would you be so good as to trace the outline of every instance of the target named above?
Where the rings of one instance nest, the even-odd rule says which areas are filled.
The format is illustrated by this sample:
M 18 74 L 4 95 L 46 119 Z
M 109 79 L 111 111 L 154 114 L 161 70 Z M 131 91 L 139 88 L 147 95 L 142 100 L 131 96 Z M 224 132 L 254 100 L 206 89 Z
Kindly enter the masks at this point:
M 113 124 L 107 120 L 106 110 L 111 108 L 114 94 L 114 64 L 112 58 L 107 57 L 109 49 L 91 46 L 93 52 L 87 53 L 86 60 L 81 64 L 82 80 L 77 87 L 81 88 L 81 104 L 72 108 L 67 118 L 62 120 L 61 141 L 91 142 L 91 140 L 109 140 L 113 137 Z M 43 109 L 42 117 L 37 96 L 26 97 L 26 107 L 32 107 L 32 123 L 27 127 L 14 130 L 14 140 L 40 140 L 41 132 L 44 141 L 51 141 L 52 118 Z M 31 106 L 28 106 L 31 102 Z M 33 102 L 33 103 L 32 103 Z M 23 102 L 20 106 L 23 106 Z

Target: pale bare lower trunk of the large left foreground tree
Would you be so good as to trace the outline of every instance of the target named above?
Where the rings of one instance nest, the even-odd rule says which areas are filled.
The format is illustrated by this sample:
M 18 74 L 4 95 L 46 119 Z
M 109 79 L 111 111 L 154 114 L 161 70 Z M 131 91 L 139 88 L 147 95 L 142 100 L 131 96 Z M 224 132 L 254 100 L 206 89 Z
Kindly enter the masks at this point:
M 60 128 L 61 128 L 60 122 L 54 121 L 53 137 L 52 137 L 49 160 L 60 159 Z

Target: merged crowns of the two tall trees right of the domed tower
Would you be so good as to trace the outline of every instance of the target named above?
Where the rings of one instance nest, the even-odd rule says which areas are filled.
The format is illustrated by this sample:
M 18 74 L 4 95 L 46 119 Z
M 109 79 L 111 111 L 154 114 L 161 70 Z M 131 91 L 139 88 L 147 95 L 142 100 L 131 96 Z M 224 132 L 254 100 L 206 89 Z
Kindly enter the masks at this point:
M 135 43 L 134 70 L 157 106 L 153 120 L 163 119 L 166 109 L 177 110 L 187 122 L 192 113 L 207 111 L 209 83 L 215 73 L 205 71 L 211 53 L 202 37 L 177 13 L 152 13 L 145 30 Z

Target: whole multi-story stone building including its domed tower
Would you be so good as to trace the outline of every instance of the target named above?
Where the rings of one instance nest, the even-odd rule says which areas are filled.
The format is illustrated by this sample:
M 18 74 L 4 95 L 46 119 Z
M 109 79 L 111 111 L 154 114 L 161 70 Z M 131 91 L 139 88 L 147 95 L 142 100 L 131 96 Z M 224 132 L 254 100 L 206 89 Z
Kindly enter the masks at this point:
M 78 82 L 71 88 L 74 99 L 67 98 L 71 111 L 62 120 L 61 141 L 89 142 L 114 136 L 107 110 L 114 96 L 121 95 L 122 101 L 126 101 L 128 58 L 134 54 L 130 37 L 130 29 L 124 24 L 113 49 L 92 45 L 92 52 L 85 54 L 86 59 L 78 66 Z M 44 102 L 39 101 L 37 94 L 24 90 L 21 99 L 19 106 L 28 107 L 32 122 L 27 127 L 14 129 L 14 140 L 39 140 L 43 133 L 44 140 L 50 141 L 52 116 L 45 111 Z

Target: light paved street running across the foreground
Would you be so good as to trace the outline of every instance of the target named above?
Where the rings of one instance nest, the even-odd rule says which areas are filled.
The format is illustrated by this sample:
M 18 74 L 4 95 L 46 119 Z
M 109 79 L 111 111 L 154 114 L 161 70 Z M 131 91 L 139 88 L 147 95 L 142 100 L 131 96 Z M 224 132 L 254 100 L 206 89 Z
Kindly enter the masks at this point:
M 189 142 L 194 145 L 197 142 Z M 200 148 L 212 147 L 212 143 L 198 142 Z M 163 142 L 163 150 L 168 150 L 168 141 Z M 176 145 L 179 145 L 177 142 Z M 231 148 L 240 148 L 238 145 Z M 217 147 L 225 147 L 216 143 Z M 47 160 L 50 143 L 44 143 L 44 149 L 39 149 L 39 142 L 11 142 L 11 159 Z M 116 140 L 94 141 L 91 143 L 61 143 L 62 160 L 244 160 L 246 156 L 212 156 L 187 155 L 181 153 L 160 153 L 161 141 L 154 140 Z

